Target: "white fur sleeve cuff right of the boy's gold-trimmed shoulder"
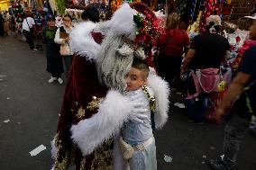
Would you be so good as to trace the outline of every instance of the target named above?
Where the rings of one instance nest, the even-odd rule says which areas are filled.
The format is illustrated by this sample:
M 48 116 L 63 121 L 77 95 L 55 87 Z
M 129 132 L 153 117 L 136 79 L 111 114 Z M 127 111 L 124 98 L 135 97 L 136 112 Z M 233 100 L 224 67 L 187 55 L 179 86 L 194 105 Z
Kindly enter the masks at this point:
M 157 76 L 151 68 L 148 86 L 151 87 L 156 98 L 156 129 L 161 129 L 169 117 L 169 84 L 160 76 Z

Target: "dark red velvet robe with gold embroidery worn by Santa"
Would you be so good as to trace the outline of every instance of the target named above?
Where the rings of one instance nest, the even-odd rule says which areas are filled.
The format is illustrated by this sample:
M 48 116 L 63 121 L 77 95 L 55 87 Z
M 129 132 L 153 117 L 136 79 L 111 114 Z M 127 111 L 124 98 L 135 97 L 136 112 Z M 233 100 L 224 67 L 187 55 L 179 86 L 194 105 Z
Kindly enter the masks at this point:
M 97 43 L 101 43 L 100 33 L 93 32 Z M 82 157 L 80 149 L 70 139 L 70 128 L 78 121 L 88 119 L 97 112 L 98 99 L 105 97 L 107 88 L 98 81 L 96 64 L 87 57 L 75 55 L 69 72 L 69 80 L 65 90 L 55 144 L 59 149 L 55 170 L 68 169 L 75 163 L 76 169 L 102 169 L 111 166 L 112 157 L 109 142 L 87 157 Z M 95 104 L 95 105 L 94 105 Z M 105 152 L 106 151 L 106 152 Z M 105 154 L 108 153 L 108 154 Z

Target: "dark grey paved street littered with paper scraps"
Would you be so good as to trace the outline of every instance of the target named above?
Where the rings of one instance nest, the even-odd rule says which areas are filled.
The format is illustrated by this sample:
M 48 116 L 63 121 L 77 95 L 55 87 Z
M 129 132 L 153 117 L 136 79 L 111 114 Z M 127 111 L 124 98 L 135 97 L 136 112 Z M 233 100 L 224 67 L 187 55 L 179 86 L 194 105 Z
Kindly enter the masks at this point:
M 43 52 L 31 51 L 14 36 L 0 38 L 0 170 L 48 170 L 65 84 L 49 84 Z M 67 82 L 67 79 L 64 79 Z M 155 133 L 159 170 L 208 170 L 207 161 L 222 155 L 223 125 L 188 123 L 180 94 L 173 94 L 169 121 Z M 46 147 L 35 157 L 29 154 Z M 256 139 L 242 140 L 239 170 L 256 169 Z M 171 157 L 166 162 L 164 156 Z

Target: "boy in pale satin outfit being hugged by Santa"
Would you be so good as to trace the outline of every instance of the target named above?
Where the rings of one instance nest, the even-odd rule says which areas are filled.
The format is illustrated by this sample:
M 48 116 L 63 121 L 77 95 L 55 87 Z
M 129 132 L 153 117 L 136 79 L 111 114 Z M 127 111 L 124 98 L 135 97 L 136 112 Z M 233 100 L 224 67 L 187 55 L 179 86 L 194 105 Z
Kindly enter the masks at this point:
M 120 148 L 123 153 L 124 161 L 129 164 L 131 170 L 156 170 L 156 146 L 152 129 L 154 129 L 153 114 L 155 100 L 152 96 L 151 88 L 147 87 L 147 77 L 149 67 L 141 59 L 134 58 L 133 65 L 126 77 L 126 94 L 130 100 L 139 99 L 142 103 L 141 108 L 144 112 L 143 121 L 129 119 L 123 123 L 121 129 Z M 136 112 L 133 112 L 136 114 Z M 127 152 L 128 151 L 128 152 Z

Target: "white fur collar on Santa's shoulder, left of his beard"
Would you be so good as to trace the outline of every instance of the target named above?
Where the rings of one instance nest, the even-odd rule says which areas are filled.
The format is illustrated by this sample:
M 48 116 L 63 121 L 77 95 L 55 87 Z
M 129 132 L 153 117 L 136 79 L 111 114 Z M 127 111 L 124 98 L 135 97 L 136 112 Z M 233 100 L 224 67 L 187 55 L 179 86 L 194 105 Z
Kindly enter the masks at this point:
M 75 53 L 88 59 L 96 58 L 100 45 L 91 36 L 95 27 L 94 22 L 81 22 L 71 31 L 69 43 Z

